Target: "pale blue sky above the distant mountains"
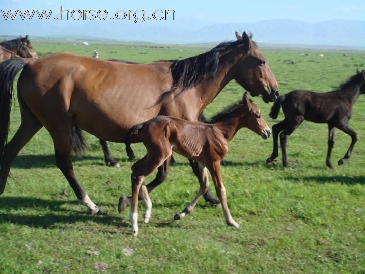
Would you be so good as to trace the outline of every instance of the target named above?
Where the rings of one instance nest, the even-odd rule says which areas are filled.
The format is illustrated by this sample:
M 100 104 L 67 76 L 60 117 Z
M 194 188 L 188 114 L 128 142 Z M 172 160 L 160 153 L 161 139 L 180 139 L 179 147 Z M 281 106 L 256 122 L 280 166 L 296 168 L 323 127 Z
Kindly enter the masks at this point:
M 174 9 L 179 17 L 193 17 L 216 23 L 257 22 L 294 19 L 321 22 L 332 19 L 365 20 L 365 1 L 55 1 L 0 0 L 0 9 Z M 1 21 L 0 21 L 1 23 Z

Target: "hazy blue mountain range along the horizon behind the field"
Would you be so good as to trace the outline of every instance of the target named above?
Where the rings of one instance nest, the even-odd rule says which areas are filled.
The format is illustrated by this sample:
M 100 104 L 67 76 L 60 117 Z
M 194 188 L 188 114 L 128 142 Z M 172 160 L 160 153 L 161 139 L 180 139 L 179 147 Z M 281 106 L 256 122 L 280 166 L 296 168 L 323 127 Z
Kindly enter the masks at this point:
M 175 21 L 0 21 L 0 35 L 25 35 L 51 39 L 113 40 L 170 44 L 221 42 L 235 39 L 234 31 L 254 34 L 261 43 L 337 46 L 365 49 L 365 21 L 331 20 L 309 23 L 268 20 L 217 24 L 195 18 Z

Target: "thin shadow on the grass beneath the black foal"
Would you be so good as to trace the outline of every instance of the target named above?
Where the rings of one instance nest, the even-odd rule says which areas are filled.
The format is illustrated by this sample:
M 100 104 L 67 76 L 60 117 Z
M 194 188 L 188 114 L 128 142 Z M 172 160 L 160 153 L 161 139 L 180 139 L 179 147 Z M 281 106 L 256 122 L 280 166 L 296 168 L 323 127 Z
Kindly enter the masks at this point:
M 286 180 L 292 180 L 297 181 L 298 177 L 289 176 L 285 177 Z M 305 182 L 316 182 L 318 184 L 325 184 L 325 183 L 341 183 L 346 185 L 355 185 L 355 184 L 361 184 L 365 185 L 365 176 L 341 176 L 341 175 L 335 175 L 335 176 L 304 176 L 300 178 L 301 180 Z

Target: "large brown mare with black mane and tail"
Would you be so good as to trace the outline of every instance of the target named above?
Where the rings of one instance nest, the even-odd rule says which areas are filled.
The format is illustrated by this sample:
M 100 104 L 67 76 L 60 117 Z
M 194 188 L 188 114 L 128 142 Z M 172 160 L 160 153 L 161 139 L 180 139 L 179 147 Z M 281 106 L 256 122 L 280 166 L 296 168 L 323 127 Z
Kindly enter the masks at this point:
M 233 79 L 251 94 L 261 94 L 265 102 L 278 96 L 269 65 L 246 33 L 199 56 L 170 66 L 160 63 L 123 64 L 67 53 L 0 63 L 0 194 L 16 155 L 44 126 L 53 139 L 57 167 L 79 201 L 98 214 L 73 171 L 73 124 L 100 139 L 124 142 L 133 125 L 157 115 L 197 121 Z M 13 81 L 21 70 L 17 83 L 21 124 L 7 143 Z M 169 160 L 160 166 L 148 191 L 163 181 Z

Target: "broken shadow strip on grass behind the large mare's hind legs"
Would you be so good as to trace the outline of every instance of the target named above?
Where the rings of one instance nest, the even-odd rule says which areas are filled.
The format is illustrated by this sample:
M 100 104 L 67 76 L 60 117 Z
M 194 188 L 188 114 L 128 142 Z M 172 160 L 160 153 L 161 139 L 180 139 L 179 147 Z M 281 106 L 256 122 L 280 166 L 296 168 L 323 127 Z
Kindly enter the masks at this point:
M 127 162 L 127 158 L 118 159 L 120 163 Z M 72 162 L 77 162 L 78 165 L 85 162 L 85 165 L 90 165 L 88 161 L 94 161 L 92 165 L 106 166 L 102 157 L 83 156 L 81 159 L 72 156 Z M 12 165 L 13 168 L 30 169 L 30 168 L 55 168 L 56 161 L 54 155 L 18 155 Z

